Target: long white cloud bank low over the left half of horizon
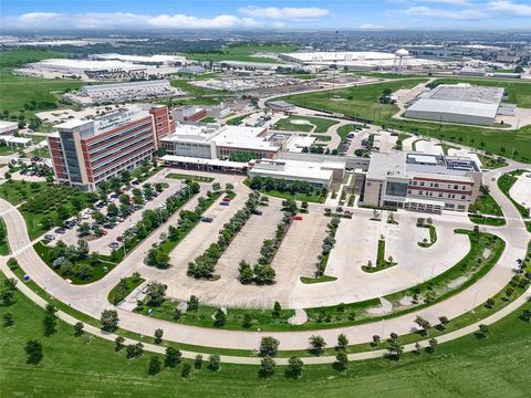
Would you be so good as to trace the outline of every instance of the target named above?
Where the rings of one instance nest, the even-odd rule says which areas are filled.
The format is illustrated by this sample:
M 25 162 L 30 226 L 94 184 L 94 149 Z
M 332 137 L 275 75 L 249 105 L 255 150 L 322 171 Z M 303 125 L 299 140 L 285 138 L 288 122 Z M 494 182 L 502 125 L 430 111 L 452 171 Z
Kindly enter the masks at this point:
M 134 13 L 87 12 L 79 14 L 31 12 L 18 17 L 4 17 L 2 25 L 23 30 L 116 30 L 116 29 L 239 29 L 258 28 L 260 23 L 252 18 L 239 18 L 230 14 L 214 18 L 198 18 L 185 14 L 144 15 Z

